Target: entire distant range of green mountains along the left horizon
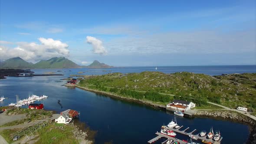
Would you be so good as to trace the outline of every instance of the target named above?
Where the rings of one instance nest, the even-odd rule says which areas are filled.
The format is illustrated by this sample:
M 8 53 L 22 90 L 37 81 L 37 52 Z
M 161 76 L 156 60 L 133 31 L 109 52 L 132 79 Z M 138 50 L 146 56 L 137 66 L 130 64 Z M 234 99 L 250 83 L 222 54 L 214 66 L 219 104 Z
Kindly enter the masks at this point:
M 41 60 L 36 64 L 32 62 L 26 62 L 20 57 L 7 59 L 6 61 L 0 62 L 0 69 L 49 69 L 49 68 L 110 68 L 111 66 L 98 61 L 92 62 L 89 66 L 77 65 L 65 57 L 54 57 L 48 60 Z

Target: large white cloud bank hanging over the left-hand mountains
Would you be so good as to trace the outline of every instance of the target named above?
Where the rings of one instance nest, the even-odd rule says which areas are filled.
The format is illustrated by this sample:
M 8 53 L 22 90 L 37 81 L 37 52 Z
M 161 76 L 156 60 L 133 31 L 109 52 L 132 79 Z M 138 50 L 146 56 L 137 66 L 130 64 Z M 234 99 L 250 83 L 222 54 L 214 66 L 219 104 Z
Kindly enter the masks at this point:
M 56 56 L 69 56 L 69 49 L 66 43 L 59 40 L 39 38 L 41 44 L 19 42 L 13 49 L 5 46 L 0 47 L 0 59 L 5 60 L 13 57 L 21 57 L 30 62 L 41 59 L 50 59 Z

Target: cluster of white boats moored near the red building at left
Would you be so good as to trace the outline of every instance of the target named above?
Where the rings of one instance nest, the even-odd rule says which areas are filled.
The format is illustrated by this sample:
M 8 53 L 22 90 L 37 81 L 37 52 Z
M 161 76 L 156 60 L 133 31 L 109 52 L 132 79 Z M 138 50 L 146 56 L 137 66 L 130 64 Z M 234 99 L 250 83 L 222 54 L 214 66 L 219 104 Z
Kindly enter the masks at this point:
M 30 105 L 30 104 L 34 103 L 35 101 L 41 101 L 45 98 L 48 98 L 48 96 L 46 96 L 46 95 L 41 95 L 41 96 L 29 95 L 29 97 L 27 99 L 20 100 L 16 104 L 10 103 L 9 106 L 21 107 L 22 105 Z

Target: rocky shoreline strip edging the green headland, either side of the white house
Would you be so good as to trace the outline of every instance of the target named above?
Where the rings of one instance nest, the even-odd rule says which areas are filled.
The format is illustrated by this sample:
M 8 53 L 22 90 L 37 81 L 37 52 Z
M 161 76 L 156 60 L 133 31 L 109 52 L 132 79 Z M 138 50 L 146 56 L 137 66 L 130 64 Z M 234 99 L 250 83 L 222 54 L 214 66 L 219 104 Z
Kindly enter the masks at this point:
M 82 90 L 85 91 L 89 91 L 89 92 L 95 92 L 98 94 L 102 94 L 102 95 L 107 95 L 111 98 L 118 98 L 118 99 L 122 99 L 122 100 L 126 100 L 126 101 L 133 101 L 139 104 L 145 104 L 154 108 L 159 108 L 159 109 L 164 109 L 166 110 L 165 105 L 158 105 L 153 103 L 152 101 L 145 101 L 145 100 L 139 100 L 139 99 L 135 99 L 135 98 L 129 98 L 129 97 L 123 97 L 111 92 L 103 92 L 103 91 L 99 91 L 99 90 L 95 90 L 95 89 L 91 89 L 91 88 L 87 88 L 87 87 L 82 87 L 79 85 L 65 85 L 66 87 L 76 87 L 76 88 L 80 88 Z M 223 112 L 224 111 L 224 112 Z M 219 115 L 216 116 L 216 112 L 219 113 Z M 233 114 L 237 114 L 236 116 L 234 116 Z M 228 111 L 228 110 L 213 110 L 213 111 L 198 111 L 194 117 L 199 117 L 199 118 L 217 118 L 223 120 L 227 120 L 227 121 L 235 121 L 235 122 L 240 122 L 243 124 L 247 124 L 249 126 L 249 137 L 247 139 L 246 144 L 256 144 L 256 121 L 254 121 L 253 119 L 244 116 L 240 113 L 234 112 L 234 111 Z

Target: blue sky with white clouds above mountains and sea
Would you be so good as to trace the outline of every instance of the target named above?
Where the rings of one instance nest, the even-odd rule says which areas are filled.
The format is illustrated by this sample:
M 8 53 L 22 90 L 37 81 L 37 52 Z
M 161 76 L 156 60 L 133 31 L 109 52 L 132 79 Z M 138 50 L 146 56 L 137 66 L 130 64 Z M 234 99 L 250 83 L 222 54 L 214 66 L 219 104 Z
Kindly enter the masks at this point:
M 256 65 L 256 0 L 0 0 L 0 60 Z

